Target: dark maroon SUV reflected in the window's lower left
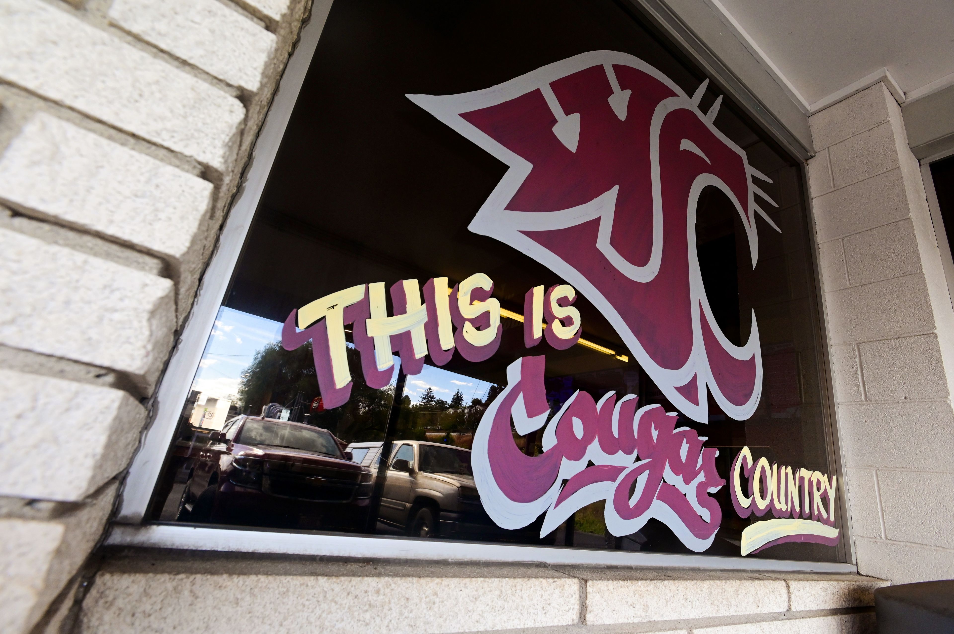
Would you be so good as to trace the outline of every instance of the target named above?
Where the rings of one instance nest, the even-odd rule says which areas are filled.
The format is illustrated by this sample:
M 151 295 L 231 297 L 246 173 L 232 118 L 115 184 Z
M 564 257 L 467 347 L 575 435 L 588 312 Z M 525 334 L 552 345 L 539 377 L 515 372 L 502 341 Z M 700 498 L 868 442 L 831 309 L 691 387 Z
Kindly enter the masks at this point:
M 287 420 L 230 420 L 199 451 L 179 522 L 359 530 L 371 471 L 326 430 Z

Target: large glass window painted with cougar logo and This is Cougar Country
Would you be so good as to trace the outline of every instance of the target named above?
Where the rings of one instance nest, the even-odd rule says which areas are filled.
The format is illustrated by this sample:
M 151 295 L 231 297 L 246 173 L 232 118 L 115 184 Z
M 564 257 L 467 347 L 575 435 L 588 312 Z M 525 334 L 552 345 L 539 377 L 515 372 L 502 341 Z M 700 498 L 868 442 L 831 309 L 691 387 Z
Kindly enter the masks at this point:
M 801 167 L 705 79 L 621 1 L 336 2 L 150 519 L 838 561 Z

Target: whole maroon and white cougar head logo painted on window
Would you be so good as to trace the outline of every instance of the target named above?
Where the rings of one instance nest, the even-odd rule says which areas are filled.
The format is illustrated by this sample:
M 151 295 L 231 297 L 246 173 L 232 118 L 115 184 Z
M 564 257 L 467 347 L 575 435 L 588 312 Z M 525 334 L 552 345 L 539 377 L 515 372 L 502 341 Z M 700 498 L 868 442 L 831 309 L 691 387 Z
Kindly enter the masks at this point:
M 414 103 L 509 166 L 470 222 L 563 276 L 606 316 L 670 401 L 707 422 L 707 391 L 733 419 L 761 392 L 756 317 L 749 340 L 716 324 L 695 250 L 703 188 L 741 216 L 752 266 L 752 182 L 769 180 L 661 72 L 627 53 L 591 51 L 483 91 L 409 94 Z M 555 123 L 554 123 L 555 120 Z

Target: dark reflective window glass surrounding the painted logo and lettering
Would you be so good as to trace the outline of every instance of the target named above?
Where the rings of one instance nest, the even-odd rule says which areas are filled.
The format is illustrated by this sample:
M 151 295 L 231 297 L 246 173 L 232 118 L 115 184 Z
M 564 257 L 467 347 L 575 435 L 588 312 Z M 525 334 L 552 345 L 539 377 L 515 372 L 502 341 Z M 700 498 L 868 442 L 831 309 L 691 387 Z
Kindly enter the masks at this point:
M 508 530 L 487 516 L 472 475 L 471 449 L 516 359 L 546 357 L 548 418 L 577 392 L 595 401 L 611 392 L 617 399 L 638 395 L 640 407 L 677 410 L 585 297 L 574 303 L 583 324 L 579 344 L 556 350 L 544 341 L 527 348 L 521 321 L 525 294 L 566 280 L 518 250 L 468 230 L 505 168 L 404 95 L 483 89 L 580 51 L 632 53 L 687 94 L 703 77 L 609 0 L 490 0 L 479 9 L 448 6 L 439 20 L 415 7 L 421 9 L 416 2 L 332 7 L 184 403 L 150 517 L 690 552 L 656 520 L 630 535 L 613 536 L 603 501 L 577 510 L 546 535 L 541 518 Z M 492 45 L 488 24 L 497 34 Z M 454 37 L 448 38 L 451 28 Z M 524 46 L 528 29 L 553 36 Z M 363 33 L 358 47 L 348 35 L 353 32 Z M 701 96 L 702 112 L 716 96 L 712 90 Z M 695 210 L 702 283 L 718 326 L 740 344 L 749 338 L 753 314 L 757 317 L 762 396 L 747 420 L 727 417 L 711 400 L 708 423 L 679 416 L 677 426 L 718 449 L 716 471 L 725 479 L 743 446 L 755 460 L 833 474 L 799 167 L 729 99 L 716 126 L 745 151 L 753 168 L 772 179 L 759 186 L 778 202 L 768 215 L 780 234 L 757 222 L 755 268 L 745 229 L 725 194 L 705 188 Z M 390 383 L 375 389 L 364 380 L 348 325 L 350 398 L 327 408 L 311 343 L 291 351 L 281 347 L 282 322 L 318 297 L 373 282 L 424 284 L 436 276 L 453 285 L 475 273 L 493 280 L 493 297 L 504 309 L 500 347 L 486 360 L 469 362 L 455 353 L 438 367 L 428 357 L 422 372 L 404 376 L 395 357 Z M 393 309 L 388 297 L 387 314 Z M 524 455 L 544 453 L 543 429 L 511 433 Z M 350 452 L 350 460 L 342 452 Z M 722 522 L 705 554 L 737 557 L 742 531 L 757 518 L 737 515 L 728 486 L 713 497 Z M 839 555 L 833 546 L 785 543 L 749 557 L 834 561 Z

